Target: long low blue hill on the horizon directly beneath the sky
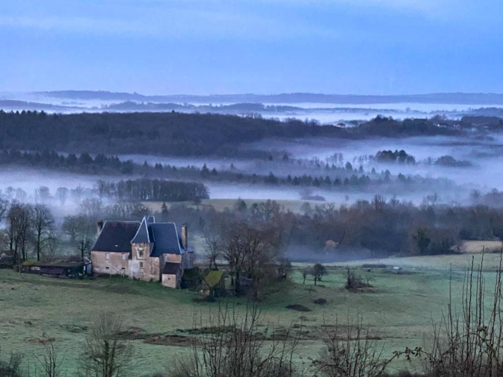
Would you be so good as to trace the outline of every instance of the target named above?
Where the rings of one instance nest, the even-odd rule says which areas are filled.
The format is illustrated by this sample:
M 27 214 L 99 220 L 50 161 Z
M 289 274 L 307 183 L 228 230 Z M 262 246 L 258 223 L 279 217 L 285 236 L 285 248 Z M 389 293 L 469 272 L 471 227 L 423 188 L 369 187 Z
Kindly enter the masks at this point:
M 387 104 L 387 103 L 428 103 L 428 104 L 473 104 L 503 105 L 503 93 L 429 93 L 416 95 L 339 95 L 322 93 L 281 93 L 276 95 L 257 95 L 253 93 L 235 95 L 154 95 L 139 93 L 58 90 L 39 91 L 37 95 L 74 100 L 144 101 L 176 103 L 326 103 L 326 104 Z

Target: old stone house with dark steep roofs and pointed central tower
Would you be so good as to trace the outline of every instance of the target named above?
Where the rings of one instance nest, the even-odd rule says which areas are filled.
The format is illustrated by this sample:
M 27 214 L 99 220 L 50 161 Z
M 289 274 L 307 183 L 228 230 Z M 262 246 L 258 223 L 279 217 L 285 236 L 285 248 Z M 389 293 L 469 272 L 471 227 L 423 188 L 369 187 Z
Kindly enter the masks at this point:
M 179 235 L 175 223 L 156 223 L 148 216 L 141 222 L 99 222 L 98 232 L 91 249 L 96 274 L 120 274 L 179 288 L 184 269 L 194 263 L 186 224 Z

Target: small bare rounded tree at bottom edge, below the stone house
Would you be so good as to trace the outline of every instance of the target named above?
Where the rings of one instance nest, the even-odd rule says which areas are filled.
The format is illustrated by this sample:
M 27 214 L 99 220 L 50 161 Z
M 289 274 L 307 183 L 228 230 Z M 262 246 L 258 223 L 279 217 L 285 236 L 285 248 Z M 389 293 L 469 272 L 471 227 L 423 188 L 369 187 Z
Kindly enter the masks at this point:
M 86 338 L 82 367 L 93 377 L 120 377 L 127 374 L 133 352 L 127 340 L 120 338 L 122 322 L 118 316 L 100 315 Z

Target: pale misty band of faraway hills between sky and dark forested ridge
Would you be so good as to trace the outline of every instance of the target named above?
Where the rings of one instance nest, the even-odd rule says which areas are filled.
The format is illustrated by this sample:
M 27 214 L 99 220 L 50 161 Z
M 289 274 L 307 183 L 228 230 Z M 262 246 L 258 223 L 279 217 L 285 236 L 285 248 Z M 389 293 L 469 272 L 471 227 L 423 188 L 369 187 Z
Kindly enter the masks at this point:
M 64 97 L 67 96 L 67 97 Z M 323 102 L 306 102 L 323 99 Z M 206 100 L 206 101 L 205 101 Z M 296 100 L 292 102 L 292 100 Z M 485 101 L 485 102 L 484 102 Z M 0 92 L 4 110 L 44 110 L 48 113 L 156 112 L 260 115 L 278 120 L 314 119 L 321 124 L 364 121 L 378 115 L 396 119 L 439 114 L 450 119 L 479 112 L 502 114 L 503 101 L 484 95 L 459 96 L 325 96 L 292 93 L 278 96 L 142 96 L 99 91 Z

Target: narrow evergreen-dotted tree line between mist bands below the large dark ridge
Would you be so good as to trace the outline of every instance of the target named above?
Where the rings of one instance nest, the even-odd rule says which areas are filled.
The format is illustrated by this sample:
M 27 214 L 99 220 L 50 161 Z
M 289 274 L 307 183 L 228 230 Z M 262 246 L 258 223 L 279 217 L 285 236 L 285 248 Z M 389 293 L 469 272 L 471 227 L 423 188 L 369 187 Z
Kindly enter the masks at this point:
M 270 156 L 271 157 L 271 156 Z M 341 158 L 340 158 L 341 160 Z M 267 184 L 267 185 L 292 185 L 292 186 L 313 186 L 325 187 L 334 189 L 354 189 L 366 190 L 369 186 L 389 185 L 390 183 L 408 183 L 408 190 L 414 190 L 413 184 L 418 185 L 421 190 L 422 186 L 431 184 L 442 184 L 441 179 L 422 178 L 420 176 L 405 176 L 399 173 L 393 176 L 389 170 L 376 172 L 374 168 L 370 172 L 365 172 L 362 165 L 357 169 L 353 167 L 351 162 L 346 162 L 344 167 L 336 166 L 333 163 L 322 163 L 318 160 L 302 161 L 290 158 L 283 158 L 280 162 L 284 169 L 289 167 L 306 169 L 318 169 L 324 173 L 320 175 L 313 174 L 288 174 L 277 175 L 272 171 L 269 174 L 246 173 L 237 170 L 231 166 L 229 170 L 217 170 L 216 168 L 209 169 L 207 164 L 201 168 L 194 165 L 175 166 L 163 165 L 155 163 L 151 165 L 146 161 L 143 164 L 134 163 L 131 160 L 121 161 L 117 156 L 105 156 L 98 154 L 94 158 L 89 153 L 81 153 L 80 155 L 56 153 L 54 151 L 44 151 L 42 153 L 29 153 L 16 150 L 0 151 L 0 164 L 6 165 L 22 165 L 30 167 L 44 167 L 62 171 L 72 171 L 85 174 L 111 174 L 111 175 L 134 175 L 140 174 L 144 177 L 169 178 L 169 179 L 194 179 L 207 180 L 214 182 L 238 182 L 250 184 Z M 396 178 L 396 179 L 394 179 Z M 23 194 L 23 193 L 20 193 Z M 203 195 L 204 196 L 204 195 Z M 131 199 L 138 199 L 131 198 Z M 160 197 L 159 197 L 160 198 Z M 204 199 L 204 198 L 203 198 Z M 142 199 L 145 200 L 145 199 Z M 170 199 L 158 199 L 171 201 Z M 190 199 L 189 199 L 190 200 Z M 174 199 L 176 201 L 176 199 Z

